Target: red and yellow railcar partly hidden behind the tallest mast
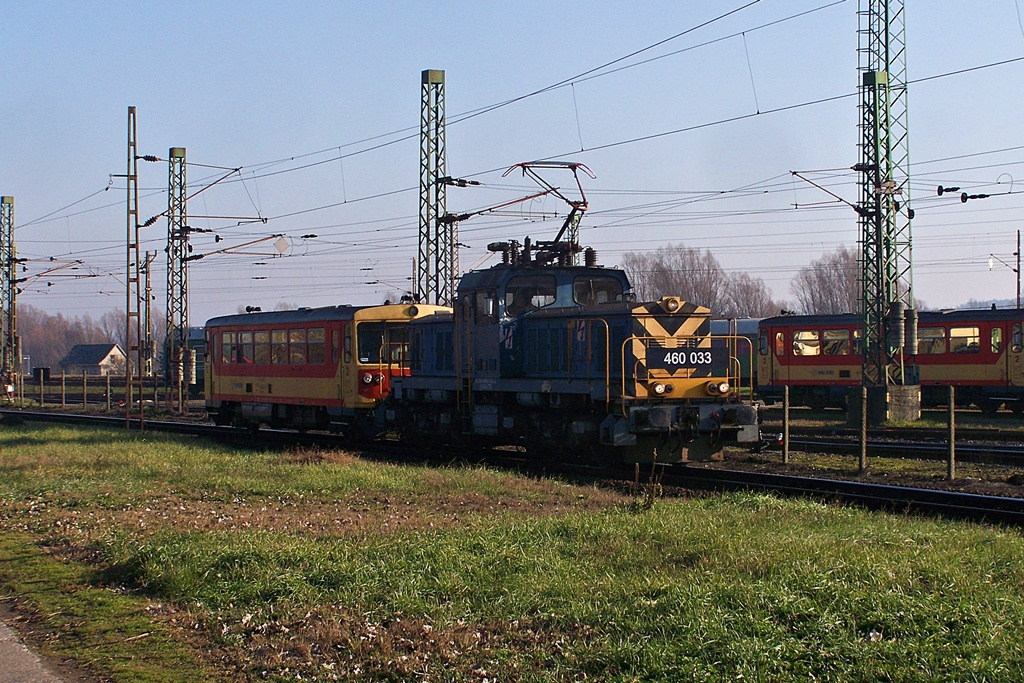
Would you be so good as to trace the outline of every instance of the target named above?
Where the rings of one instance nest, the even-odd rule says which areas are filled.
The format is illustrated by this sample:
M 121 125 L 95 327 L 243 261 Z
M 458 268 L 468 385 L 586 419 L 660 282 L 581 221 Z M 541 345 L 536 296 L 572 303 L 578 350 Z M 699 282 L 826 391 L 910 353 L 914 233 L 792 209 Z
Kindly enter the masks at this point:
M 844 407 L 861 384 L 859 315 L 781 315 L 761 321 L 758 393 L 767 401 L 790 386 L 794 404 Z M 922 403 L 958 403 L 986 413 L 1006 405 L 1024 413 L 1024 309 L 922 311 L 918 343 L 904 364 L 915 372 Z

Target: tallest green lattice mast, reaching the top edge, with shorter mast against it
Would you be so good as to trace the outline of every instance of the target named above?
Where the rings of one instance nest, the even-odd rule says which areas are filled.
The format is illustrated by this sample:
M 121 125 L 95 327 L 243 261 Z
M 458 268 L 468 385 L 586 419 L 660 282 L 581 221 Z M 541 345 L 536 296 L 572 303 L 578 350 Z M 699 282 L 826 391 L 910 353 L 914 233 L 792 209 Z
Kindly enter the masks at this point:
M 913 384 L 903 355 L 904 319 L 913 325 L 906 120 L 906 43 L 902 0 L 861 0 L 860 215 L 865 386 Z

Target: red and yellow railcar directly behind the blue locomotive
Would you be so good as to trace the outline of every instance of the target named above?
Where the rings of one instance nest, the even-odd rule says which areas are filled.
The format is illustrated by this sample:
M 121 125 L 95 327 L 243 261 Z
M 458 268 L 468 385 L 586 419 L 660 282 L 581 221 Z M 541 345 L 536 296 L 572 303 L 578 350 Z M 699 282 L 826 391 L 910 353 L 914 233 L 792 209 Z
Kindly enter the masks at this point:
M 207 322 L 206 405 L 218 425 L 376 432 L 374 410 L 408 374 L 420 304 L 331 306 Z

